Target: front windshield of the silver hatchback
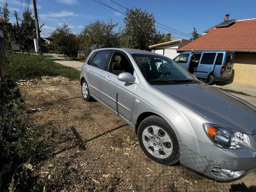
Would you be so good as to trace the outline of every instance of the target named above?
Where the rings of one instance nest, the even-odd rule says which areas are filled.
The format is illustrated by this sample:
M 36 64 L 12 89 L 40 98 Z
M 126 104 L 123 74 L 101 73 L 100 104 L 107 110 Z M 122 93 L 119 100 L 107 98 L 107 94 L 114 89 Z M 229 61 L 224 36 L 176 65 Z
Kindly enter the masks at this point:
M 132 54 L 150 84 L 195 83 L 196 78 L 175 61 L 156 55 Z

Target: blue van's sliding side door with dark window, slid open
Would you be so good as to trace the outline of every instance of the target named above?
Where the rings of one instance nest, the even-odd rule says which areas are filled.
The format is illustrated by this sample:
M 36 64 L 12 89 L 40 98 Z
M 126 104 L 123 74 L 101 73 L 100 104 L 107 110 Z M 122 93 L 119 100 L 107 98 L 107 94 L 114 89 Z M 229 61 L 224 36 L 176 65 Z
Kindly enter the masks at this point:
M 214 70 L 214 64 L 217 52 L 203 52 L 200 58 L 196 78 L 207 79 L 209 74 Z

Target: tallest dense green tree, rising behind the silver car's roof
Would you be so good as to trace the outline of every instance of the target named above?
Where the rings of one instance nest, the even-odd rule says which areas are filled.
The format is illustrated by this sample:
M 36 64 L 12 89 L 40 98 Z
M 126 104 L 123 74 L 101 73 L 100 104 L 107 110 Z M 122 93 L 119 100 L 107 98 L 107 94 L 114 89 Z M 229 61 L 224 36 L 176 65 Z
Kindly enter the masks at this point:
M 141 11 L 137 7 L 127 9 L 124 18 L 125 28 L 122 36 L 124 48 L 149 50 L 149 45 L 156 42 L 157 30 L 153 13 Z

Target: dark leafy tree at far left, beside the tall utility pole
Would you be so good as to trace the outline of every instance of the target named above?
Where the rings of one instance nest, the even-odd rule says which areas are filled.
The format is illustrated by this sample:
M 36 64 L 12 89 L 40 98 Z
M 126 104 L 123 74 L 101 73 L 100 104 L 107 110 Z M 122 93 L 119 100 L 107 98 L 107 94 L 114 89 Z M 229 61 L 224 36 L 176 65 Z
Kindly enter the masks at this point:
M 9 23 L 9 15 L 8 4 L 5 3 L 1 9 L 1 17 L 4 21 L 7 41 L 12 44 L 19 44 L 21 49 L 24 47 L 27 51 L 33 50 L 35 47 L 33 39 L 36 38 L 36 26 L 31 11 L 27 10 L 23 12 L 22 20 L 18 19 L 20 25 L 17 25 L 16 23 L 12 25 Z M 41 25 L 40 28 L 43 25 Z

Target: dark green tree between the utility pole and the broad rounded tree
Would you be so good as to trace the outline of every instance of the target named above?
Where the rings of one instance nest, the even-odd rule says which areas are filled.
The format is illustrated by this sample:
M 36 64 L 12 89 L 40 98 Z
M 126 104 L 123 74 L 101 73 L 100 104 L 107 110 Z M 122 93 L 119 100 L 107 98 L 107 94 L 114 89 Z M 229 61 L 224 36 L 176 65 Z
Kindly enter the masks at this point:
M 52 36 L 54 36 L 53 47 L 57 52 L 68 56 L 77 54 L 77 36 L 72 33 L 67 24 L 64 23 L 62 27 L 54 29 Z

